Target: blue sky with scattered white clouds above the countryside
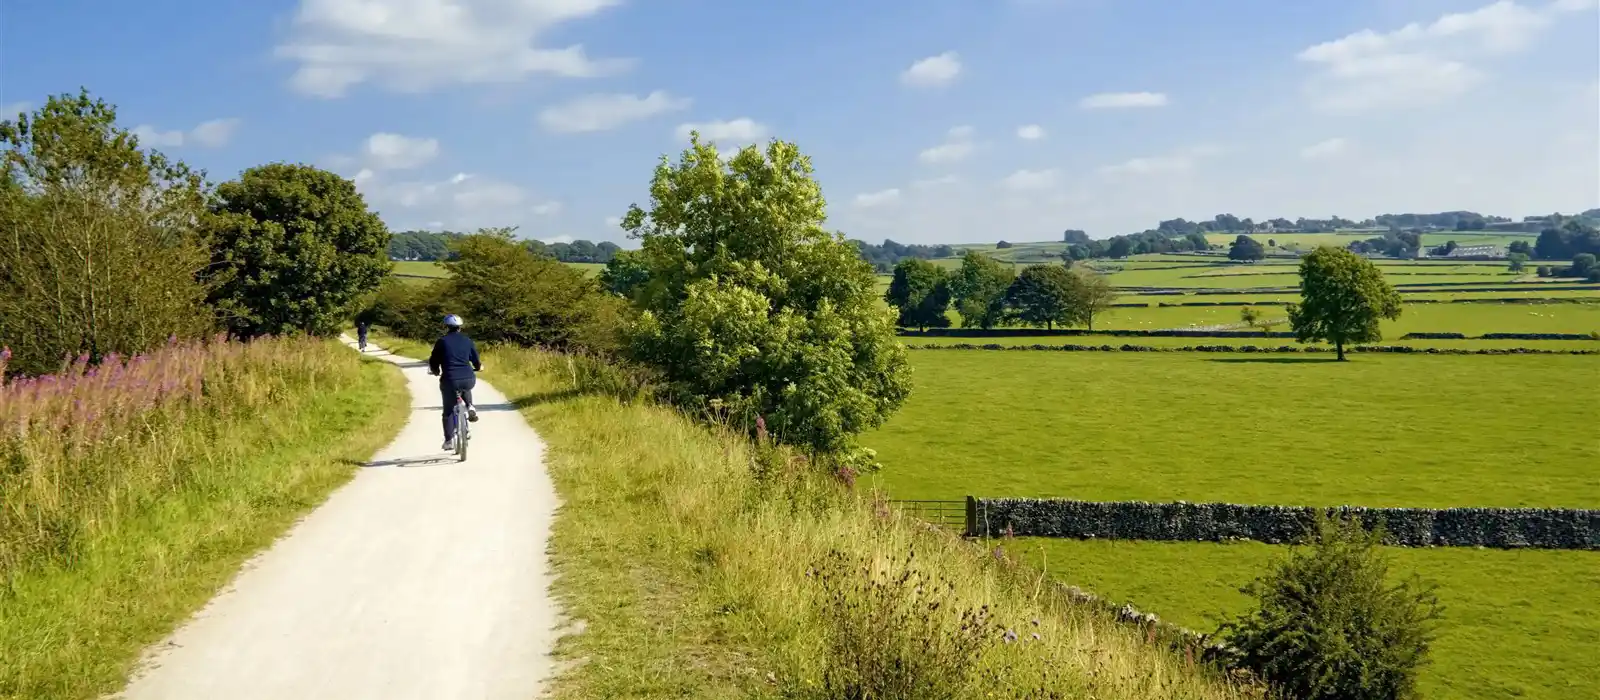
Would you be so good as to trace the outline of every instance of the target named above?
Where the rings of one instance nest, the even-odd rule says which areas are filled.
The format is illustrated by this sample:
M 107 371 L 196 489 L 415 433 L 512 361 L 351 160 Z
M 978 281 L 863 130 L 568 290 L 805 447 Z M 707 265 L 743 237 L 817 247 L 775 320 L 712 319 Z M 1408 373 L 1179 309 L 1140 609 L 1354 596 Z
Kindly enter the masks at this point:
M 315 163 L 390 227 L 542 240 L 622 241 L 686 125 L 798 142 L 874 241 L 1523 216 L 1600 206 L 1595 5 L 13 2 L 0 107 L 82 85 L 216 181 Z

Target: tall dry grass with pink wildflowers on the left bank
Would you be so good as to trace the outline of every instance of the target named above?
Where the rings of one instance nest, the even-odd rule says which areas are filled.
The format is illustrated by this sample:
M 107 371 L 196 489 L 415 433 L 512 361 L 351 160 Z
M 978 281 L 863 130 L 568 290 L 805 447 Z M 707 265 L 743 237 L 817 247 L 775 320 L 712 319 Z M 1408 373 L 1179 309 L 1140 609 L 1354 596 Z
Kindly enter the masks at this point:
M 354 385 L 342 353 L 315 339 L 170 342 L 0 384 L 0 595 L 174 491 L 226 487 L 230 427 Z

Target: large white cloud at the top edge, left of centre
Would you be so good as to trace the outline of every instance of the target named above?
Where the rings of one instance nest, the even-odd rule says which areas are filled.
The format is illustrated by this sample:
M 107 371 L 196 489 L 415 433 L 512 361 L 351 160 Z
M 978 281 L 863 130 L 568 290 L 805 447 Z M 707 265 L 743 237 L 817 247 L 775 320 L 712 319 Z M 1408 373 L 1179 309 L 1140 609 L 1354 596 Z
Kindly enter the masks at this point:
M 296 62 L 290 85 L 344 96 L 376 83 L 421 93 L 454 83 L 510 83 L 536 74 L 610 75 L 622 59 L 590 59 L 582 45 L 547 48 L 555 27 L 621 0 L 301 0 L 277 56 Z

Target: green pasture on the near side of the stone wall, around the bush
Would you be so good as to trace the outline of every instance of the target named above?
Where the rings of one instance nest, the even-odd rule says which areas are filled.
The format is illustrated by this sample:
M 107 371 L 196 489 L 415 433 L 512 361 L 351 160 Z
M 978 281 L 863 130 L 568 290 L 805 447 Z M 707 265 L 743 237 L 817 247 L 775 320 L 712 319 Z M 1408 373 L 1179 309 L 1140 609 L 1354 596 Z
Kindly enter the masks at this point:
M 1282 556 L 1262 543 L 1016 540 L 1008 547 L 1051 577 L 1213 631 L 1248 609 L 1238 587 Z M 1600 553 L 1389 548 L 1395 574 L 1438 585 L 1445 606 L 1427 698 L 1600 695 L 1595 591 Z

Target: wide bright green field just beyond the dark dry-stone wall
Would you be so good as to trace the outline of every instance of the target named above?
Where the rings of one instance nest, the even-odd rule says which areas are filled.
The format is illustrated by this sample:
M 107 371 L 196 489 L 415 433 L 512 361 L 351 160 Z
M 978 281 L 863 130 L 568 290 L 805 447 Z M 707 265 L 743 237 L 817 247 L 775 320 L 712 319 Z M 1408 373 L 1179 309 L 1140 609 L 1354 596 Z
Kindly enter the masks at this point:
M 902 499 L 1594 507 L 1592 356 L 912 352 Z M 1578 384 L 1574 384 L 1578 382 Z

